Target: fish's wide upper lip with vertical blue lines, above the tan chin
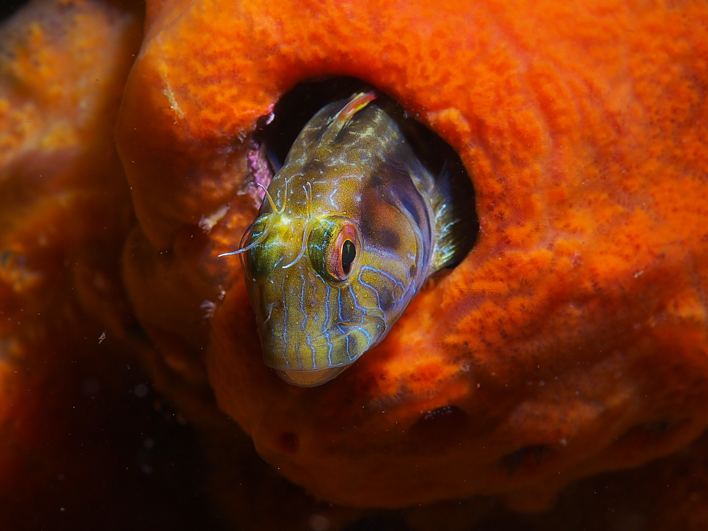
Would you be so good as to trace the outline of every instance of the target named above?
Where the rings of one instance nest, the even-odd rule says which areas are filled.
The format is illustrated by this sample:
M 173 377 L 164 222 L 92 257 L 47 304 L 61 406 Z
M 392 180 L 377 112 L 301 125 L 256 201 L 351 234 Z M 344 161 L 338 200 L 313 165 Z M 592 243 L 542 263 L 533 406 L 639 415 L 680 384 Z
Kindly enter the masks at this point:
M 362 324 L 338 323 L 314 337 L 307 336 L 301 330 L 276 334 L 273 329 L 259 329 L 263 362 L 268 367 L 287 373 L 319 372 L 335 368 L 344 370 L 379 343 L 386 332 L 384 322 L 378 320 Z M 297 379 L 303 378 L 306 378 L 304 374 Z

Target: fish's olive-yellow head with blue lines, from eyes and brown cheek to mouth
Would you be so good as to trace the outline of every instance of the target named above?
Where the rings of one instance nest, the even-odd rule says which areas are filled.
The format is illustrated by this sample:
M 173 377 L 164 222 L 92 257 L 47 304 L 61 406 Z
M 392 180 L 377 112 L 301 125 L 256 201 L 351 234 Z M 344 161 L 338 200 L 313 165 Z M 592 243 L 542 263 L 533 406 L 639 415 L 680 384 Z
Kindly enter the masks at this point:
M 317 186 L 310 212 L 266 208 L 244 256 L 265 365 L 303 387 L 382 341 L 425 276 L 421 229 L 388 192 L 367 186 L 333 212 Z

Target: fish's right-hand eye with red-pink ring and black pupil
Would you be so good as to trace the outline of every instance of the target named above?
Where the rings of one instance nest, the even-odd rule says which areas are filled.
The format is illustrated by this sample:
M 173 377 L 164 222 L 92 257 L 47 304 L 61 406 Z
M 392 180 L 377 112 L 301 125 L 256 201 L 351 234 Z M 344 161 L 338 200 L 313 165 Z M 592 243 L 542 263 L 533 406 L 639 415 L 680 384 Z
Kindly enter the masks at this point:
M 343 217 L 324 217 L 312 229 L 307 245 L 310 263 L 330 282 L 346 280 L 355 268 L 361 236 L 355 224 Z

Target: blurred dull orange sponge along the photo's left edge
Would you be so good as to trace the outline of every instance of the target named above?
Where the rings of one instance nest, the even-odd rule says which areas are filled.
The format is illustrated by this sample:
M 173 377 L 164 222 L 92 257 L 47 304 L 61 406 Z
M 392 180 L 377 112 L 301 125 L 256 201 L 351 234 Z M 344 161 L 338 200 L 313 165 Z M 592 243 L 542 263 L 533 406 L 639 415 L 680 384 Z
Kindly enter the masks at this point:
M 130 321 L 118 257 L 135 219 L 110 132 L 139 36 L 137 16 L 84 0 L 30 4 L 0 28 L 7 528 L 42 525 L 60 505 L 85 504 L 76 487 L 115 462 L 103 448 L 72 445 L 71 435 L 85 428 L 76 416 L 86 372 L 101 373 L 114 359 L 115 338 L 96 353 L 101 331 Z M 62 525 L 81 525 L 75 513 L 67 517 Z

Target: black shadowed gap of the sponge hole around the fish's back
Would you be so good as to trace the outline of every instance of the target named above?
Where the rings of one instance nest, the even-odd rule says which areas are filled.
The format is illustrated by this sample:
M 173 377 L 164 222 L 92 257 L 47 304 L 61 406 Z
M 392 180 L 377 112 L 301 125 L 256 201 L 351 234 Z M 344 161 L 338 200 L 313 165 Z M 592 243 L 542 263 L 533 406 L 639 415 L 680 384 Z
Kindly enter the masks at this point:
M 353 77 L 338 76 L 303 81 L 280 98 L 273 109 L 273 120 L 270 123 L 266 123 L 265 117 L 259 121 L 258 129 L 253 133 L 253 140 L 258 144 L 265 144 L 275 161 L 282 164 L 297 135 L 318 110 L 328 103 L 348 98 L 357 91 L 370 89 L 371 85 Z M 467 239 L 471 249 L 479 233 L 479 219 L 476 216 L 472 179 L 459 155 L 450 144 L 409 116 L 399 103 L 385 93 L 377 90 L 375 104 L 396 120 L 418 159 L 433 176 L 440 176 L 442 171 L 449 174 L 452 196 L 455 198 L 455 211 L 465 217 L 465 230 L 473 233 Z M 464 251 L 466 254 L 469 249 Z

